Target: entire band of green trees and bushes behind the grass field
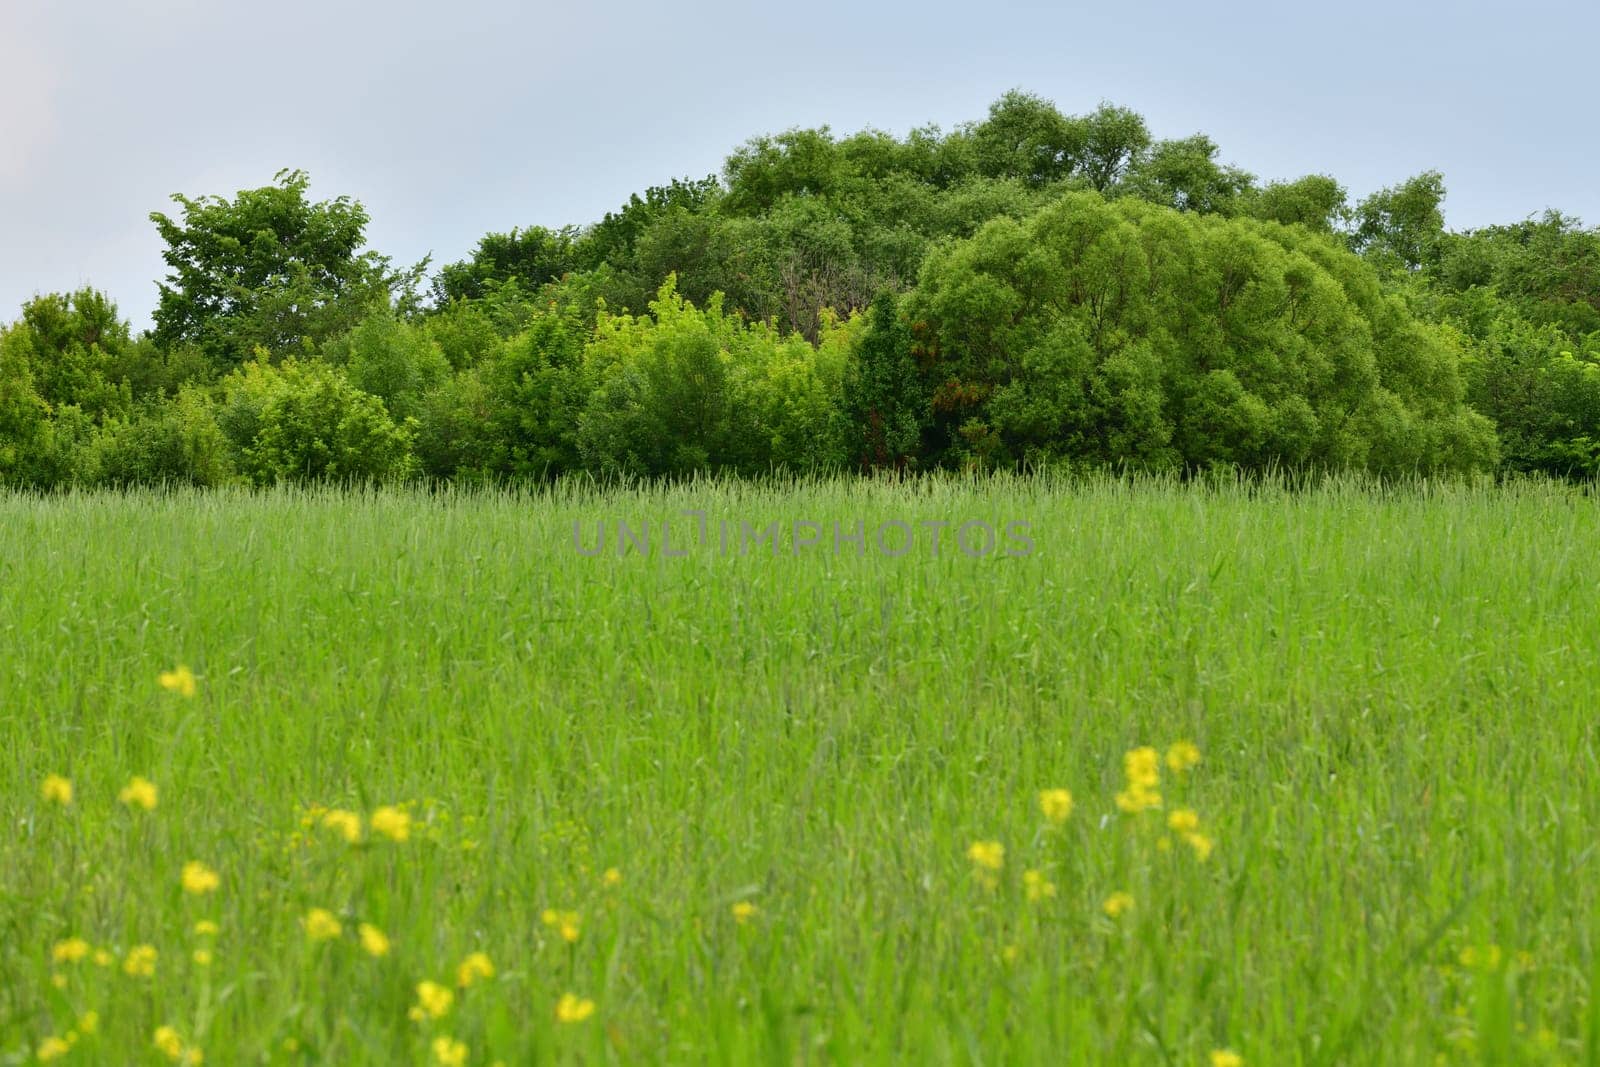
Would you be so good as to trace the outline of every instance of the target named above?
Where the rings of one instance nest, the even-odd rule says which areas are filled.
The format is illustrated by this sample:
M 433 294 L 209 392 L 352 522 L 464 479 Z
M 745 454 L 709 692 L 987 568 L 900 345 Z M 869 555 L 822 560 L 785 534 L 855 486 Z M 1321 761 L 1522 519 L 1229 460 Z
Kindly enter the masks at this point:
M 1205 134 L 1008 93 L 906 138 L 755 138 L 592 226 L 392 269 L 309 179 L 174 197 L 133 336 L 0 331 L 0 483 L 1214 466 L 1600 475 L 1600 230 L 1450 232 Z

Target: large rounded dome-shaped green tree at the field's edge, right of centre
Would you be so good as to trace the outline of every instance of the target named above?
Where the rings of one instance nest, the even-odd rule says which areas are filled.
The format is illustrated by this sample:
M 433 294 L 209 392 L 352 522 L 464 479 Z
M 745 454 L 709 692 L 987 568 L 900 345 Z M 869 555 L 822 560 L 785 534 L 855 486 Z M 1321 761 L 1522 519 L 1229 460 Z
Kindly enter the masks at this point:
M 931 256 L 907 314 L 952 461 L 1493 462 L 1448 336 L 1304 230 L 1069 194 Z

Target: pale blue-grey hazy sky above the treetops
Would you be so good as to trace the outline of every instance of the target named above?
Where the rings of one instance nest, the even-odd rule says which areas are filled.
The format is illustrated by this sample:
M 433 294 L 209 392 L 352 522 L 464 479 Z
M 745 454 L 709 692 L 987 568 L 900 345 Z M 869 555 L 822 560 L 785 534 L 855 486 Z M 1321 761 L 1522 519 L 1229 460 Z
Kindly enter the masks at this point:
M 93 285 L 134 328 L 152 211 L 283 168 L 411 264 L 592 222 L 750 136 L 904 134 L 1010 88 L 1203 131 L 1262 179 L 1363 197 L 1443 171 L 1453 229 L 1600 224 L 1600 5 L 0 0 L 0 322 Z

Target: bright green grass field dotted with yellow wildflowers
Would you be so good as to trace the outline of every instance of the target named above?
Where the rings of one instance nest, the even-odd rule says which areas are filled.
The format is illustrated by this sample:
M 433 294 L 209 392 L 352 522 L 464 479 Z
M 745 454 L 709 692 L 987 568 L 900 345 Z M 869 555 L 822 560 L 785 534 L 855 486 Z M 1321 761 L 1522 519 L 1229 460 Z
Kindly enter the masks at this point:
M 574 547 L 683 509 L 1035 549 Z M 1597 545 L 1554 486 L 0 499 L 0 1062 L 1597 1062 Z

